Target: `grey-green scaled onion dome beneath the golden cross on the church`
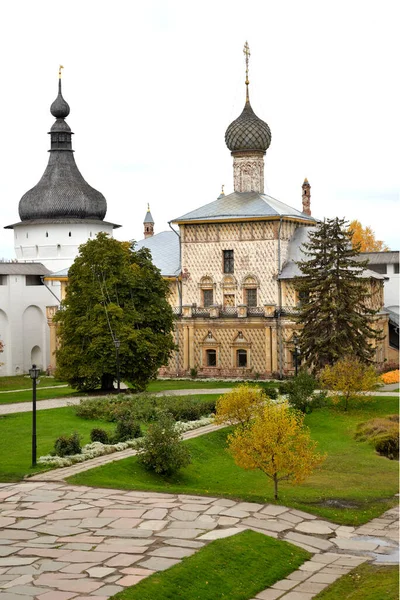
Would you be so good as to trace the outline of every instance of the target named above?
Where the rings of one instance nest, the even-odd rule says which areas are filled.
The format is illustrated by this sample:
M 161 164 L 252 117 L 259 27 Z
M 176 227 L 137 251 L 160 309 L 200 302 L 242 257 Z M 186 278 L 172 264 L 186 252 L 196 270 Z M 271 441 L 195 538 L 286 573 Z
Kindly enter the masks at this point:
M 231 152 L 265 152 L 271 144 L 271 130 L 257 117 L 247 97 L 243 112 L 225 132 L 225 143 Z

